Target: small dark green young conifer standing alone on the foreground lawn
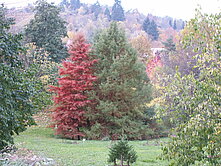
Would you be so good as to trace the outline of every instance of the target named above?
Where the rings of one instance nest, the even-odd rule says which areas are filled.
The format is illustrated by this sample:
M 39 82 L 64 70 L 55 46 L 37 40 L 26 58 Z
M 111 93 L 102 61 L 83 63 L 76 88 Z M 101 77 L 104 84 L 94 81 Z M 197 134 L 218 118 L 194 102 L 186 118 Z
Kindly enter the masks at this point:
M 121 166 L 124 165 L 124 161 L 126 161 L 127 166 L 130 166 L 130 163 L 136 162 L 137 154 L 133 146 L 130 146 L 127 141 L 121 140 L 110 148 L 108 162 L 114 163 L 114 166 L 117 166 L 117 160 L 120 160 Z

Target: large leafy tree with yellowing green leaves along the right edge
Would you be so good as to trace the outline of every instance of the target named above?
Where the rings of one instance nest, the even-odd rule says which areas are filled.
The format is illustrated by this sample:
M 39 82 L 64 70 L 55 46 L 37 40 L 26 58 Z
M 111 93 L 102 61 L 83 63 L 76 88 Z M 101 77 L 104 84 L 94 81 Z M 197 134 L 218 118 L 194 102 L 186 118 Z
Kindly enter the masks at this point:
M 184 49 L 194 51 L 196 71 L 177 72 L 164 93 L 159 113 L 169 116 L 174 134 L 163 148 L 172 165 L 220 165 L 220 13 L 200 12 L 185 27 Z M 184 29 L 184 30 L 185 30 Z

